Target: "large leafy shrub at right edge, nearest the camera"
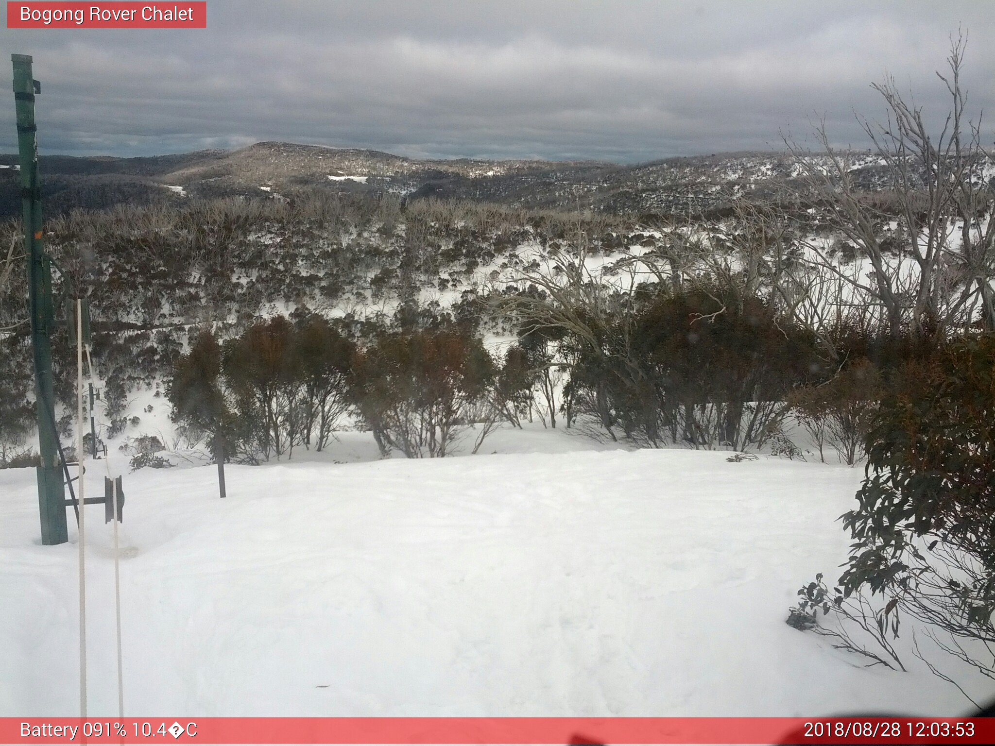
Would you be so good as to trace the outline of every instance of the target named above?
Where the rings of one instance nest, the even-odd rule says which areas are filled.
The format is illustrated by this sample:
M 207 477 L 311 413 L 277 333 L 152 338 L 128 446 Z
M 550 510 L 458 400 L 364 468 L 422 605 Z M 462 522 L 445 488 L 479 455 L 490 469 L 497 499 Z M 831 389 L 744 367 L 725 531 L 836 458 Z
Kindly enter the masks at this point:
M 844 597 L 881 595 L 880 624 L 895 635 L 902 612 L 995 674 L 995 336 L 896 371 L 866 450 L 858 506 L 843 516 L 854 539 Z

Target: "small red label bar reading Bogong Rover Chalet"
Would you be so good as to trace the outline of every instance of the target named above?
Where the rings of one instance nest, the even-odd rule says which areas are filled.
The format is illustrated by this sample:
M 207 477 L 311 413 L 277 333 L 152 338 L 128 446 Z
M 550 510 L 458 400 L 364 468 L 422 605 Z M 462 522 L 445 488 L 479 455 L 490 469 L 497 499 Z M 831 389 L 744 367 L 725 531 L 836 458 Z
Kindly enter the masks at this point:
M 206 29 L 207 2 L 8 2 L 8 29 Z

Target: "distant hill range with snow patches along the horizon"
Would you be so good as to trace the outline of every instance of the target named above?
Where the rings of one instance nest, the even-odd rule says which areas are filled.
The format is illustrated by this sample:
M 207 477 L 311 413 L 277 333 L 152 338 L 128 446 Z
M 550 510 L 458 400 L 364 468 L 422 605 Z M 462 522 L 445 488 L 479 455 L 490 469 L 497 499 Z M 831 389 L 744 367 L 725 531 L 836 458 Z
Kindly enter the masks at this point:
M 0 168 L 0 217 L 20 212 L 20 185 L 12 167 L 16 163 L 16 155 L 0 155 L 0 166 L 8 166 Z M 870 155 L 858 165 L 869 172 L 876 169 Z M 40 158 L 40 168 L 48 215 L 121 203 L 169 204 L 189 197 L 279 199 L 308 190 L 368 191 L 529 208 L 667 212 L 747 191 L 763 193 L 795 176 L 790 159 L 779 153 L 726 153 L 617 165 L 418 160 L 378 150 L 289 142 L 140 158 L 46 155 Z

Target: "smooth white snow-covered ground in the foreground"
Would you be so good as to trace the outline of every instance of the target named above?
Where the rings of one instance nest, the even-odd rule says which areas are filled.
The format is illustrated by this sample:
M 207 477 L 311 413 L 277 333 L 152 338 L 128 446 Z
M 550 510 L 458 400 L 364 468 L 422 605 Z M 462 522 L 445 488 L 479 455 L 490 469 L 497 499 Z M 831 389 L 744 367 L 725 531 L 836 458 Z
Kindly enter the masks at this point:
M 908 673 L 866 668 L 784 624 L 796 589 L 846 555 L 835 521 L 860 468 L 541 428 L 502 431 L 487 455 L 368 461 L 365 438 L 324 461 L 229 466 L 226 500 L 213 466 L 125 473 L 126 714 L 969 710 L 914 658 Z M 0 470 L 4 716 L 78 710 L 77 534 L 71 513 L 70 543 L 41 546 L 36 494 L 33 469 Z M 88 516 L 103 716 L 110 532 L 102 506 Z

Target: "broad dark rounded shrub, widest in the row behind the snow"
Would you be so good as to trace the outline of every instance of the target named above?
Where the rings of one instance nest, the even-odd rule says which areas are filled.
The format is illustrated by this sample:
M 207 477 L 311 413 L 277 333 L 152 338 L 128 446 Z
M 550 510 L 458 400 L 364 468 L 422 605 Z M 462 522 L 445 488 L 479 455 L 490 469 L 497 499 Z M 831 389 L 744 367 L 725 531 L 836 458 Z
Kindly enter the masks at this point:
M 570 338 L 568 393 L 601 424 L 653 446 L 741 450 L 778 432 L 785 397 L 821 370 L 816 340 L 734 287 L 649 288 Z

